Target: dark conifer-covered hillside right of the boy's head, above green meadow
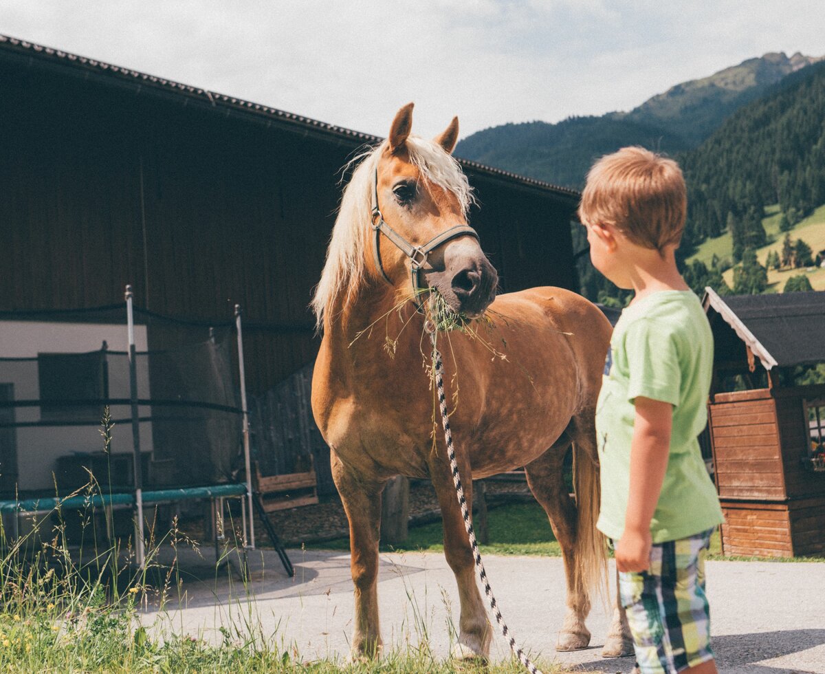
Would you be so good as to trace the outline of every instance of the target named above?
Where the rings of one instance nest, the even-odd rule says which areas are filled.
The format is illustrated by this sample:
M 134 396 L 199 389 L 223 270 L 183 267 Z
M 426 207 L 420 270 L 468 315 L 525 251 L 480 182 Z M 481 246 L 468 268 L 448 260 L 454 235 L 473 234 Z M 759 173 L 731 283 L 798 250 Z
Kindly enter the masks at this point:
M 765 206 L 790 229 L 825 203 L 825 64 L 785 78 L 699 148 L 679 156 L 688 185 L 686 247 L 727 229 L 733 261 L 766 243 Z

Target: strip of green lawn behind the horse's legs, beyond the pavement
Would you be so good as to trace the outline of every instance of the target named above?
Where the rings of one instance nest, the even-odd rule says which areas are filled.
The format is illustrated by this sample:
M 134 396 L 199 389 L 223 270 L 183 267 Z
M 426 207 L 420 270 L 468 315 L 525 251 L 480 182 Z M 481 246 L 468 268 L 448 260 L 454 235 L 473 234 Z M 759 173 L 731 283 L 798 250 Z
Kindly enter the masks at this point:
M 538 503 L 513 503 L 488 511 L 490 543 L 479 545 L 481 554 L 539 554 L 550 557 L 561 555 L 559 543 L 550 529 L 547 516 Z M 441 521 L 414 527 L 409 531 L 406 544 L 381 545 L 382 552 L 442 552 L 444 550 L 444 529 Z M 349 550 L 346 538 L 326 543 L 309 544 L 313 549 Z M 722 539 L 719 531 L 710 540 L 708 559 L 728 559 L 735 561 L 780 561 L 780 562 L 825 562 L 825 557 L 799 557 L 793 559 L 765 559 L 761 557 L 725 557 L 722 554 Z

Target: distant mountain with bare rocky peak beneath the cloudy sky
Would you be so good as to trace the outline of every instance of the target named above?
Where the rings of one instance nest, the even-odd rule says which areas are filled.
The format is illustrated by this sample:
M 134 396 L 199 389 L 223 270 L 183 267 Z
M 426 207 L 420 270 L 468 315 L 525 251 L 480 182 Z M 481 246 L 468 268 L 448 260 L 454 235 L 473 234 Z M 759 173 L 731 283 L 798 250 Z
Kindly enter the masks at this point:
M 724 119 L 764 95 L 783 78 L 822 59 L 765 54 L 708 78 L 682 82 L 629 112 L 571 117 L 558 124 L 526 122 L 479 131 L 462 139 L 457 156 L 581 188 L 602 154 L 642 145 L 668 154 L 700 144 Z

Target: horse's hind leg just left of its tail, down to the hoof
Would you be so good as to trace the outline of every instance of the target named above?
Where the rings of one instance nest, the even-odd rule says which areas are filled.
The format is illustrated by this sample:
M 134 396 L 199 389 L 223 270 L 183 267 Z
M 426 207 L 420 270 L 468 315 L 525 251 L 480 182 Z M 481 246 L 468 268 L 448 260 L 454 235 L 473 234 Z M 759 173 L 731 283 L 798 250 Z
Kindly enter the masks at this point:
M 573 651 L 587 648 L 590 630 L 584 624 L 590 612 L 587 587 L 577 578 L 576 504 L 570 497 L 563 479 L 564 454 L 571 441 L 564 434 L 543 455 L 526 465 L 527 484 L 535 499 L 547 513 L 550 526 L 562 549 L 564 574 L 567 580 L 567 614 L 559 632 L 556 650 Z

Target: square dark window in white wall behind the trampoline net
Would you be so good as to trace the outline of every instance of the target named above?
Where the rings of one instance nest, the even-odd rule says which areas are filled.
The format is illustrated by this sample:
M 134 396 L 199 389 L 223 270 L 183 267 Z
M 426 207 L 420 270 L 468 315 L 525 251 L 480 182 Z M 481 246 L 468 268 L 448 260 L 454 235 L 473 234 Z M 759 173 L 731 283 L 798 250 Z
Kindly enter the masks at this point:
M 41 421 L 98 422 L 106 391 L 106 357 L 92 353 L 39 353 Z

